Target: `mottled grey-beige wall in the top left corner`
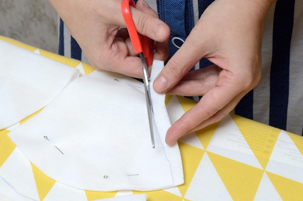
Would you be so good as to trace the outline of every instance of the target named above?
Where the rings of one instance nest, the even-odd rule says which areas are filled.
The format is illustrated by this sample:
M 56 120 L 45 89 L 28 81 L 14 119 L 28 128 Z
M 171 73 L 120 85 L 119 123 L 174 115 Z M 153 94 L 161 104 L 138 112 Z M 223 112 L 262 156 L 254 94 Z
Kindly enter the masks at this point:
M 0 35 L 58 53 L 58 18 L 48 0 L 0 0 Z

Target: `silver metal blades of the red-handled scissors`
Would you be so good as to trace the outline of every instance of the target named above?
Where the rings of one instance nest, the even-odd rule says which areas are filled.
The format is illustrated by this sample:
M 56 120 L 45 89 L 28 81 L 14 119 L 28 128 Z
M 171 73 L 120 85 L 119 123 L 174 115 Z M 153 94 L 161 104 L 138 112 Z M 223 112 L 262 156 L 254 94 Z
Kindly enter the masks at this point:
M 152 148 L 155 148 L 154 143 L 154 136 L 153 136 L 153 110 L 152 110 L 152 98 L 151 98 L 151 90 L 150 90 L 150 73 L 148 71 L 148 66 L 146 64 L 146 60 L 143 56 L 143 53 L 139 53 L 139 56 L 142 61 L 143 66 L 143 82 L 145 88 L 145 98 L 146 98 L 146 105 L 147 105 L 147 114 L 150 124 L 150 131 L 151 131 L 151 139 L 152 139 Z

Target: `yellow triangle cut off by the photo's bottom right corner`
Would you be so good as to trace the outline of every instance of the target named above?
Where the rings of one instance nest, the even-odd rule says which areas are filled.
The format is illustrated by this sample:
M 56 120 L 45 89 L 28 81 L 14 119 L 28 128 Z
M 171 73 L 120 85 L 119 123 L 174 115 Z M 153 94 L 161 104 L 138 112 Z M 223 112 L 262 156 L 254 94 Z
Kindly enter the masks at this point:
M 276 188 L 277 192 L 284 201 L 302 201 L 303 200 L 303 184 L 295 182 L 291 179 L 266 172 L 268 177 Z

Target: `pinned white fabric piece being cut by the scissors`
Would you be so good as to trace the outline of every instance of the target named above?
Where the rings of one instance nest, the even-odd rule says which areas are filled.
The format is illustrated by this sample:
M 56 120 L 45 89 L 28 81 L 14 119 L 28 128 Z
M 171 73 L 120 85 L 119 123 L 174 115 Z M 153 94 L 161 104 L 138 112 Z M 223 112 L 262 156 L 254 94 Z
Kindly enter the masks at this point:
M 163 66 L 154 61 L 153 77 Z M 143 83 L 105 71 L 71 82 L 9 136 L 37 168 L 68 186 L 95 191 L 177 186 L 183 183 L 182 161 L 178 145 L 165 143 L 170 121 L 164 99 L 152 93 L 155 149 Z

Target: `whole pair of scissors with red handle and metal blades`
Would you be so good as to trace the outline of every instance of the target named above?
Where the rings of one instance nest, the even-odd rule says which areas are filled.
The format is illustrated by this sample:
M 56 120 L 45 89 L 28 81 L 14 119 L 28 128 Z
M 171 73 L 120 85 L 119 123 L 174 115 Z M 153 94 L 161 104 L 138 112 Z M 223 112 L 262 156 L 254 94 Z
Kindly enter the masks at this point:
M 139 54 L 139 57 L 141 58 L 142 62 L 143 82 L 145 88 L 147 113 L 151 131 L 152 148 L 155 148 L 153 137 L 153 111 L 150 90 L 150 73 L 148 71 L 148 66 L 152 65 L 153 45 L 148 37 L 143 36 L 137 32 L 129 5 L 136 8 L 136 4 L 133 0 L 122 0 L 121 10 L 135 53 Z

